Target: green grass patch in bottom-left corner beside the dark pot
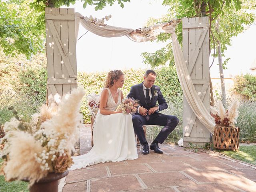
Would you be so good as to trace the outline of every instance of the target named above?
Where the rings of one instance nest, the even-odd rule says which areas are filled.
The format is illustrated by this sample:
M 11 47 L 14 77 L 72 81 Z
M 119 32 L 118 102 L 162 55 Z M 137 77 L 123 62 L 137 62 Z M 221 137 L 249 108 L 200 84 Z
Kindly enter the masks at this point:
M 0 158 L 0 162 L 2 162 Z M 0 192 L 28 192 L 28 183 L 24 181 L 6 182 L 4 176 L 0 176 Z

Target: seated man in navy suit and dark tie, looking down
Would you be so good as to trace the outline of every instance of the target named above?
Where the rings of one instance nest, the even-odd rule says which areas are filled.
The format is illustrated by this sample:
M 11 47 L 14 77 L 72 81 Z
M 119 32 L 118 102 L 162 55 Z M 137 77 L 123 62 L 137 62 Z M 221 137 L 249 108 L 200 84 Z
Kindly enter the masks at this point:
M 156 153 L 163 153 L 158 143 L 163 143 L 168 135 L 177 126 L 179 119 L 176 116 L 164 115 L 159 113 L 168 107 L 160 88 L 154 85 L 156 72 L 147 70 L 144 75 L 144 82 L 131 87 L 128 98 L 139 101 L 136 114 L 132 116 L 134 132 L 138 136 L 140 143 L 143 144 L 142 154 L 149 154 L 148 142 L 145 138 L 143 125 L 164 126 L 155 140 L 150 144 L 150 149 Z M 158 102 L 158 106 L 156 105 Z

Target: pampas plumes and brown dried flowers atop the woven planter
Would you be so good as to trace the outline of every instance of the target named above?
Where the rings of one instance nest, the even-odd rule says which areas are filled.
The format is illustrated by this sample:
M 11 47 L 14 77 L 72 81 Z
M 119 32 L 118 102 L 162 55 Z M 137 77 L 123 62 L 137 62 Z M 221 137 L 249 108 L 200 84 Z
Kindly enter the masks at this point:
M 217 102 L 217 107 L 210 106 L 211 116 L 214 118 L 215 123 L 224 126 L 235 126 L 236 119 L 238 118 L 239 102 L 233 100 L 229 108 L 226 110 L 220 100 Z

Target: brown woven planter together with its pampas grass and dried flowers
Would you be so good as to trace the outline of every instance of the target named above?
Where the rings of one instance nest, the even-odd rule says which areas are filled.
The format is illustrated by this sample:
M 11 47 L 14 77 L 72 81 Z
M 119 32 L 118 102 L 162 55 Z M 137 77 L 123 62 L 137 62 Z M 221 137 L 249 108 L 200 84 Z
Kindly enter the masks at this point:
M 239 102 L 233 100 L 229 108 L 226 110 L 220 100 L 217 107 L 210 107 L 211 115 L 215 120 L 214 127 L 214 148 L 226 150 L 239 149 L 239 131 L 236 127 L 236 119 L 238 118 Z

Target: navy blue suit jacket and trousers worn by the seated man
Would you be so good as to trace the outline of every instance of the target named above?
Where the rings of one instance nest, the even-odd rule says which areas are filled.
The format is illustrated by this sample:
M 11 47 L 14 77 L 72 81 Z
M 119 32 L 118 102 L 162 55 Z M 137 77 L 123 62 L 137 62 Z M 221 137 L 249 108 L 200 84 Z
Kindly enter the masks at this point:
M 147 110 L 150 110 L 150 108 L 155 107 L 156 102 L 158 102 L 159 111 L 167 109 L 168 105 L 166 103 L 166 100 L 164 99 L 164 96 L 162 95 L 160 88 L 156 85 L 153 85 L 151 88 L 151 102 L 146 102 L 142 83 L 132 86 L 127 98 L 133 98 L 135 100 L 138 100 L 140 106 L 143 106 Z M 138 136 L 141 144 L 146 142 L 146 138 L 142 128 L 143 125 L 164 126 L 164 128 L 162 128 L 162 130 L 156 137 L 156 140 L 162 144 L 164 140 L 168 137 L 168 135 L 172 132 L 172 130 L 174 130 L 174 128 L 177 126 L 179 119 L 176 116 L 164 115 L 156 111 L 153 114 L 146 116 L 142 116 L 139 113 L 135 113 L 132 116 L 132 122 L 134 132 Z

